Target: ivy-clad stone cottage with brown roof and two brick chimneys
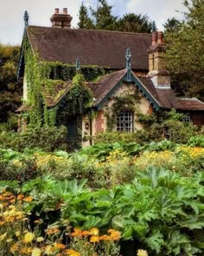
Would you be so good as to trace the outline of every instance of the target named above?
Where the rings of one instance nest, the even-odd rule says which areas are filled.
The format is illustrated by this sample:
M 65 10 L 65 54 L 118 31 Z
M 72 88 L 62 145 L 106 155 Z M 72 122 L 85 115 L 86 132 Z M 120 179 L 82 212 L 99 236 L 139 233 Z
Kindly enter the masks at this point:
M 95 115 L 90 118 L 84 113 L 62 121 L 71 136 L 76 135 L 79 123 L 82 136 L 97 135 L 107 129 L 137 132 L 143 128 L 138 115 L 171 108 L 184 113 L 188 121 L 204 125 L 204 103 L 196 98 L 177 97 L 170 87 L 169 72 L 163 62 L 163 32 L 149 35 L 71 29 L 72 16 L 67 9 L 63 13 L 55 9 L 50 28 L 29 26 L 28 13 L 24 20 L 18 67 L 18 77 L 23 77 L 23 105 L 16 110 L 20 131 L 27 126 L 32 109 L 43 108 L 52 113 L 55 108 L 58 112 L 64 108 L 76 69 L 85 75 L 86 87 L 92 91 L 90 109 Z M 77 59 L 81 66 L 78 60 L 75 67 Z M 49 69 L 40 69 L 45 63 Z M 40 73 L 48 73 L 47 80 Z M 34 76 L 42 78 L 32 80 Z M 45 90 L 50 80 L 54 81 L 54 93 Z M 32 100 L 34 94 L 41 97 L 41 104 Z M 43 111 L 41 120 L 47 115 Z

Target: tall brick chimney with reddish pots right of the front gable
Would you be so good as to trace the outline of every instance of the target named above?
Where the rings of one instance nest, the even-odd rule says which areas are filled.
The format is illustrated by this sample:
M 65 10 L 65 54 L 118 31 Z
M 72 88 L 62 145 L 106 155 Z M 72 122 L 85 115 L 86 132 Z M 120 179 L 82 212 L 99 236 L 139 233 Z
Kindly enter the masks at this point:
M 170 75 L 163 58 L 165 50 L 166 44 L 163 43 L 163 32 L 154 32 L 151 46 L 147 50 L 149 53 L 149 73 L 147 77 L 150 77 L 158 89 L 170 89 Z

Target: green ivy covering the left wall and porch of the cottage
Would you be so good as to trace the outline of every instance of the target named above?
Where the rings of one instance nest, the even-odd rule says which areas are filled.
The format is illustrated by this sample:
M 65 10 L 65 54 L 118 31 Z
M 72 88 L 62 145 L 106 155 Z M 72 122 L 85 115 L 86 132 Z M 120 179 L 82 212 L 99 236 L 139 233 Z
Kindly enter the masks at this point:
M 30 127 L 61 125 L 74 115 L 83 115 L 92 105 L 92 91 L 85 81 L 96 80 L 99 75 L 110 72 L 109 69 L 88 66 L 81 67 L 81 72 L 76 74 L 76 68 L 72 65 L 39 61 L 26 40 L 24 50 L 28 102 L 31 106 Z M 67 81 L 70 80 L 72 83 L 68 85 Z M 59 86 L 61 90 L 57 91 Z M 67 86 L 70 88 L 61 102 L 52 107 L 46 104 L 48 97 L 54 101 Z

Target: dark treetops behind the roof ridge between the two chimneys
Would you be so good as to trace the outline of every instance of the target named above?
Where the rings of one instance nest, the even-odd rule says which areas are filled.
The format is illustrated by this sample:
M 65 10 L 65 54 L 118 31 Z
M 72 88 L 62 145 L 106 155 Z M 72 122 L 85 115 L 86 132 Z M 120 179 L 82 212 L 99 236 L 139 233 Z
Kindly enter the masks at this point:
M 150 33 L 156 30 L 156 23 L 150 22 L 147 15 L 129 13 L 120 18 L 113 16 L 112 5 L 108 5 L 105 0 L 99 0 L 96 10 L 91 6 L 87 9 L 81 3 L 79 18 L 78 26 L 80 29 L 118 30 L 137 33 Z

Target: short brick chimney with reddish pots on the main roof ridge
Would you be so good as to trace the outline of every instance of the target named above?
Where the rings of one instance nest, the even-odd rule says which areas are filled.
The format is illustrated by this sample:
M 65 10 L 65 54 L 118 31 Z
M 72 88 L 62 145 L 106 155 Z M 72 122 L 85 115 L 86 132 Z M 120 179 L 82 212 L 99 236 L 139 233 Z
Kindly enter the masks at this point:
M 54 9 L 54 15 L 51 16 L 50 21 L 52 22 L 53 28 L 70 29 L 72 19 L 73 17 L 67 13 L 67 8 L 63 8 L 62 13 L 56 8 Z

